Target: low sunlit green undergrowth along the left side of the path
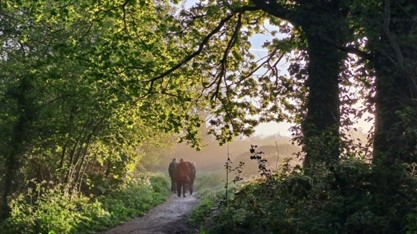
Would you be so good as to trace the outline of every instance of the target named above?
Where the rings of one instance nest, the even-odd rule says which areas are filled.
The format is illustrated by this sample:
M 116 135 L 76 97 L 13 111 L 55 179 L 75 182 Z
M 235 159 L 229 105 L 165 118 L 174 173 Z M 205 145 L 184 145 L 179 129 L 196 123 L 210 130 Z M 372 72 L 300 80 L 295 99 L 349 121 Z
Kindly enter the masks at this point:
M 170 195 L 162 175 L 143 176 L 95 198 L 62 184 L 34 184 L 11 200 L 1 233 L 92 233 L 141 216 Z

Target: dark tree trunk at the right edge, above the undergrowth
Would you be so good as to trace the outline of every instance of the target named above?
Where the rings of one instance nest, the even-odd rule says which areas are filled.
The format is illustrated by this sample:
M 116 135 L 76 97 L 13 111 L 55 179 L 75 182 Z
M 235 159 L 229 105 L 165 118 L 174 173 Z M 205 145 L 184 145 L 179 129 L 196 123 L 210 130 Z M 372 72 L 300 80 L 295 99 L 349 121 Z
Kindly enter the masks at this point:
M 385 1 L 381 35 L 370 40 L 370 47 L 375 51 L 372 65 L 376 73 L 373 161 L 375 165 L 388 167 L 417 162 L 417 47 L 414 39 L 417 30 L 409 18 L 415 15 L 417 4 L 411 1 L 402 4 L 400 8 L 398 4 L 391 7 L 390 1 Z M 410 12 L 404 12 L 405 9 Z

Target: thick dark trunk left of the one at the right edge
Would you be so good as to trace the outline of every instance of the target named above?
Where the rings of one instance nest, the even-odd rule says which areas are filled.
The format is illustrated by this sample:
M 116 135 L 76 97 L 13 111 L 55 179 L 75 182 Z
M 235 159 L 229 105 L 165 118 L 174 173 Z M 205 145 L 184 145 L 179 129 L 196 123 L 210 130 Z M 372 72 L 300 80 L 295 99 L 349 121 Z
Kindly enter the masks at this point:
M 304 169 L 311 174 L 317 166 L 330 167 L 340 156 L 339 74 L 346 53 L 338 48 L 347 41 L 347 24 L 340 3 L 305 5 L 297 20 L 307 41 L 307 113 L 301 128 Z

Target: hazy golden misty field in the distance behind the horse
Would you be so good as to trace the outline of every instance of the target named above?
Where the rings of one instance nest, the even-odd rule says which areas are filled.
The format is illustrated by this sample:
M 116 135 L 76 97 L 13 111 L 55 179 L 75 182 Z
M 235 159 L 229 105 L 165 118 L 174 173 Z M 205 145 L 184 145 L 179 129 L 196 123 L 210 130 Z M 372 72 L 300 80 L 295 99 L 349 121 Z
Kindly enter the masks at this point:
M 366 137 L 357 132 L 355 137 L 366 139 Z M 294 156 L 300 148 L 291 143 L 289 137 L 270 136 L 266 138 L 253 137 L 237 139 L 229 144 L 219 146 L 214 140 L 206 140 L 201 151 L 196 151 L 186 144 L 178 144 L 175 150 L 162 157 L 160 165 L 156 170 L 168 174 L 168 165 L 172 158 L 184 159 L 196 163 L 197 176 L 195 181 L 196 191 L 222 190 L 226 183 L 225 163 L 230 157 L 235 168 L 239 162 L 244 162 L 241 176 L 245 179 L 259 175 L 258 164 L 256 160 L 250 159 L 250 147 L 257 145 L 256 151 L 262 151 L 262 158 L 267 159 L 268 169 L 275 171 L 282 165 L 284 159 L 291 158 L 291 164 L 300 164 L 300 159 Z M 229 181 L 232 181 L 236 173 L 229 174 Z

